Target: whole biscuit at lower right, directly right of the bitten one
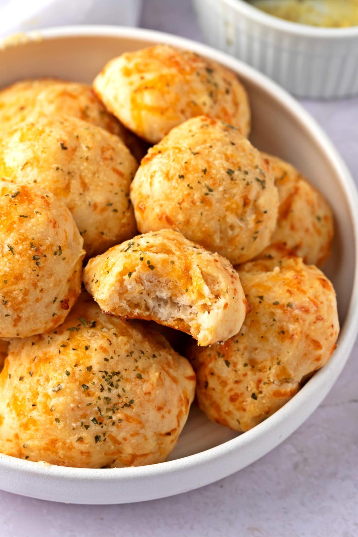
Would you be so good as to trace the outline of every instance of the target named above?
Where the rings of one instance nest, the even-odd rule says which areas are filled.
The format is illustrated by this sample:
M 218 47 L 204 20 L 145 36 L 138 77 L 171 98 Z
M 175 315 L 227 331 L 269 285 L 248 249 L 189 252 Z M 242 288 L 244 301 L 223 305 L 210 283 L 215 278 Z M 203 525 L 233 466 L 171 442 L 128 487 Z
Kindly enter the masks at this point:
M 299 258 L 269 272 L 260 261 L 246 265 L 239 274 L 252 310 L 242 329 L 223 345 L 192 345 L 188 352 L 200 408 L 236 431 L 293 397 L 326 364 L 339 332 L 333 286 L 317 267 Z

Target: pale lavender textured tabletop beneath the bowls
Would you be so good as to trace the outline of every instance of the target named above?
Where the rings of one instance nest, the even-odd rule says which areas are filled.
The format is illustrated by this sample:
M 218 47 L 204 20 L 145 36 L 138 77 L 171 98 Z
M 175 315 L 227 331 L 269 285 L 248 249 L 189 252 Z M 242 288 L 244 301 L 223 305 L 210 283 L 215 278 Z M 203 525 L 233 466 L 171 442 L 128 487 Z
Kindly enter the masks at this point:
M 144 0 L 141 26 L 201 40 L 190 0 Z M 358 98 L 303 105 L 358 182 Z M 1 537 L 355 537 L 358 343 L 326 400 L 288 440 L 237 474 L 179 496 L 64 505 L 0 491 Z

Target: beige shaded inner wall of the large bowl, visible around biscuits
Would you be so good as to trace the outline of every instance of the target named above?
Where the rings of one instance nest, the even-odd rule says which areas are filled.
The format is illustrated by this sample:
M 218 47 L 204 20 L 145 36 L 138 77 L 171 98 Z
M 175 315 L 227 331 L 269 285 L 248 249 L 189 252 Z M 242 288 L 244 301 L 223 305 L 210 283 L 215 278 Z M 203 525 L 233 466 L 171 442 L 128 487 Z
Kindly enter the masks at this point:
M 69 35 L 4 47 L 0 49 L 0 87 L 19 79 L 44 76 L 91 83 L 112 57 L 150 45 L 152 41 L 145 37 L 133 38 L 130 35 Z M 229 59 L 227 63 L 230 64 Z M 295 164 L 325 194 L 333 207 L 335 239 L 331 259 L 324 271 L 333 281 L 340 322 L 344 325 L 353 291 L 356 253 L 353 218 L 338 168 L 327 159 L 323 142 L 318 141 L 306 123 L 291 110 L 290 103 L 282 103 L 265 85 L 254 82 L 250 74 L 241 74 L 240 78 L 251 100 L 253 144 Z M 194 407 L 171 460 L 202 452 L 236 436 L 237 433 L 209 422 Z

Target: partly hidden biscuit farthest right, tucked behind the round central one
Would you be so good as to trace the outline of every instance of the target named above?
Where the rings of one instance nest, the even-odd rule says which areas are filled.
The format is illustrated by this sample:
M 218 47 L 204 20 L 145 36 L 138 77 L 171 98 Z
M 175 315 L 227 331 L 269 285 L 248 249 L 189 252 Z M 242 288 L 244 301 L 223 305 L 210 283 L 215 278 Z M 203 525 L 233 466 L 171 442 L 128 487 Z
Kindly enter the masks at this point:
M 279 191 L 279 216 L 271 244 L 260 258 L 302 257 L 304 263 L 321 266 L 331 253 L 334 222 L 331 207 L 294 166 L 278 157 L 269 159 Z

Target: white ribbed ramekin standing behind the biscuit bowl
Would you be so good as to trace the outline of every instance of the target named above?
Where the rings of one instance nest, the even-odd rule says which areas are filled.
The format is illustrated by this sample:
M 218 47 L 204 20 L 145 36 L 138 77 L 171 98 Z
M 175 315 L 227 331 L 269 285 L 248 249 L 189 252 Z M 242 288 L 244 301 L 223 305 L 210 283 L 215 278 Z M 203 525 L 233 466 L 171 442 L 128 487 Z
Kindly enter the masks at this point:
M 273 17 L 243 0 L 193 0 L 204 38 L 298 97 L 358 93 L 358 26 L 320 28 Z

